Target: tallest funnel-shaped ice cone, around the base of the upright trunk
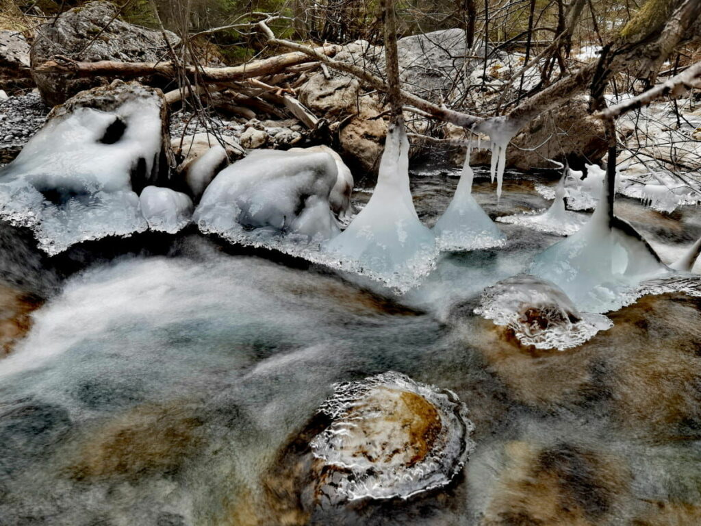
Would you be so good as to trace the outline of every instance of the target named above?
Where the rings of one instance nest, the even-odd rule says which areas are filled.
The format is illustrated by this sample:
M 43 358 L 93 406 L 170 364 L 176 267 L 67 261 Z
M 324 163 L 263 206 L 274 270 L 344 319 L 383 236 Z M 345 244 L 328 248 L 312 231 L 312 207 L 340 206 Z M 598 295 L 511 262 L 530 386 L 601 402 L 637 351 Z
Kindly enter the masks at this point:
M 400 292 L 435 266 L 433 232 L 421 224 L 409 190 L 409 141 L 390 128 L 370 201 L 326 245 L 331 266 L 364 274 Z

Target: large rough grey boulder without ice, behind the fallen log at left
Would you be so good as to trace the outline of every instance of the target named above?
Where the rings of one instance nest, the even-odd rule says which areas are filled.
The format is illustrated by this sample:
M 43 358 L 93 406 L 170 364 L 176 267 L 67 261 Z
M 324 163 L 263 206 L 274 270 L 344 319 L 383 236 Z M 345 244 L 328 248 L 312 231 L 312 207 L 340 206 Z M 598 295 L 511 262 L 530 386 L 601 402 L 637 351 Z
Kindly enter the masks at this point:
M 62 13 L 55 22 L 36 30 L 32 46 L 32 76 L 41 96 L 49 105 L 61 104 L 81 90 L 109 83 L 96 76 L 68 79 L 63 74 L 38 73 L 36 67 L 55 55 L 69 55 L 75 60 L 96 62 L 158 62 L 168 51 L 160 31 L 135 26 L 116 18 L 117 8 L 104 1 L 93 1 Z M 179 38 L 165 33 L 175 46 Z

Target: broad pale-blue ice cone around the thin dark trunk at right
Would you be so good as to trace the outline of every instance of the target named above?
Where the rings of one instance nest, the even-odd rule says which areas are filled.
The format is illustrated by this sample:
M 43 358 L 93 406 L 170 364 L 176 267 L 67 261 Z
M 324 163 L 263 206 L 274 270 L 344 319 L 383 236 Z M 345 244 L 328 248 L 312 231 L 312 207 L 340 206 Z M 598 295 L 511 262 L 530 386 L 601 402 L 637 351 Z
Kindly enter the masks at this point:
M 576 234 L 541 252 L 531 274 L 562 288 L 583 311 L 603 313 L 629 303 L 641 281 L 669 274 L 652 248 L 627 222 L 613 217 L 606 181 L 599 206 Z

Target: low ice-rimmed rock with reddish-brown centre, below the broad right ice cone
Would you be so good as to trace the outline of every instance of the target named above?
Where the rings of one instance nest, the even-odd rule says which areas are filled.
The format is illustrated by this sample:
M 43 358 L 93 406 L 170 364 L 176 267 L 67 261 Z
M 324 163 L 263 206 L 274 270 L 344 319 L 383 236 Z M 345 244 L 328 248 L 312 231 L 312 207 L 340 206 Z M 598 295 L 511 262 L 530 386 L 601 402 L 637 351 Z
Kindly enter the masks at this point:
M 512 329 L 524 345 L 564 351 L 613 327 L 602 314 L 577 310 L 550 281 L 522 274 L 488 287 L 475 314 Z

